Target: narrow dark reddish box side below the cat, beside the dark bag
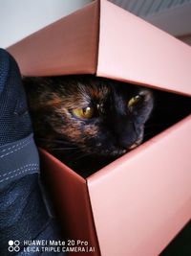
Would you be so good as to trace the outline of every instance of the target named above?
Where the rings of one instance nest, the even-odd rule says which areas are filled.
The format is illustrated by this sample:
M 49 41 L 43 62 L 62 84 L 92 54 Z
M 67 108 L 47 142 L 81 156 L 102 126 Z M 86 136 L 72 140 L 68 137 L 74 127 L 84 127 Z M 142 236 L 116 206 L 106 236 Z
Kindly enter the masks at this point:
M 77 240 L 87 241 L 89 246 L 95 246 L 95 252 L 90 254 L 98 256 L 99 247 L 86 180 L 47 151 L 40 150 L 40 156 L 41 174 L 52 197 L 63 241 L 74 240 L 75 245 Z

